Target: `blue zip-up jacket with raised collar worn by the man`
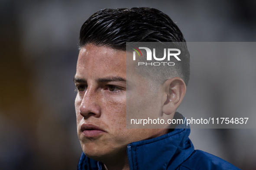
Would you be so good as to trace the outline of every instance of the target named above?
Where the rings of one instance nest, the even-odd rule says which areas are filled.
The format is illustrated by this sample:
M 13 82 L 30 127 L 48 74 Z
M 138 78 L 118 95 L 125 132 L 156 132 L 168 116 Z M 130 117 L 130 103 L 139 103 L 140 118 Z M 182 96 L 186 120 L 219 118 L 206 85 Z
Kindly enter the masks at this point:
M 176 112 L 176 116 L 184 119 L 180 113 Z M 127 146 L 130 170 L 239 170 L 219 157 L 194 150 L 189 133 L 189 126 L 180 124 L 168 134 L 130 143 Z M 83 153 L 78 170 L 101 170 L 102 166 Z

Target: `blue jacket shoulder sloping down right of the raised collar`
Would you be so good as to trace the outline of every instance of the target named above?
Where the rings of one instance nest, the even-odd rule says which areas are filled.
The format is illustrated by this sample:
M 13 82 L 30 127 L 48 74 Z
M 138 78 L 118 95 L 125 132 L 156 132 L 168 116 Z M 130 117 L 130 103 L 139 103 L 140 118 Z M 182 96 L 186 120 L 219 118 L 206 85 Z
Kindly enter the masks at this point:
M 180 170 L 239 170 L 220 157 L 214 156 L 201 150 L 195 150 L 186 161 L 184 161 Z

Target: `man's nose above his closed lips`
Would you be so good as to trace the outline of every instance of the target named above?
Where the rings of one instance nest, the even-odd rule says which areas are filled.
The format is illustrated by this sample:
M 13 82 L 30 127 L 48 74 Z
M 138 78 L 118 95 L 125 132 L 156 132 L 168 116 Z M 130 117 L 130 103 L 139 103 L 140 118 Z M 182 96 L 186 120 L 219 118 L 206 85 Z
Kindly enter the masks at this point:
M 84 118 L 88 118 L 90 116 L 100 116 L 100 98 L 97 92 L 90 90 L 88 91 L 87 89 L 87 91 L 84 93 L 84 97 L 82 98 L 79 111 Z

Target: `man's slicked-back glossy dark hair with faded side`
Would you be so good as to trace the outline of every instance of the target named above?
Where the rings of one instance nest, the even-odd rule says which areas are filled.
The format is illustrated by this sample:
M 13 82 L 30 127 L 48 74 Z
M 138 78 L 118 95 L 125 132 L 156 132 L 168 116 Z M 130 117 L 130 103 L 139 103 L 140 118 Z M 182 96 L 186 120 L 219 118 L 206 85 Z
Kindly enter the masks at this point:
M 126 42 L 186 41 L 178 26 L 165 13 L 154 8 L 140 7 L 102 9 L 94 13 L 82 25 L 78 45 L 81 48 L 91 43 L 125 51 Z M 185 44 L 183 48 L 187 51 L 186 43 L 182 44 Z M 176 70 L 173 70 L 174 67 L 168 67 L 170 69 L 166 72 L 169 77 L 162 78 L 162 81 L 170 76 L 178 76 L 187 85 L 190 74 L 188 51 L 183 56 L 182 62 L 176 65 L 175 63 Z M 158 76 L 160 73 L 156 77 Z

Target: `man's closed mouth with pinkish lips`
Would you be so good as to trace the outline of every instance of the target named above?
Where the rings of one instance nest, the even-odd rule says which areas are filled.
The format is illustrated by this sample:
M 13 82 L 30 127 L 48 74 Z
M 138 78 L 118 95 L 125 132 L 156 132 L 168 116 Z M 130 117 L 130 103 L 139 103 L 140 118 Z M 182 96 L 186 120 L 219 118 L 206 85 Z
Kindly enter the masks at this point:
M 82 134 L 87 138 L 93 138 L 106 133 L 103 129 L 93 124 L 84 123 L 81 126 Z

